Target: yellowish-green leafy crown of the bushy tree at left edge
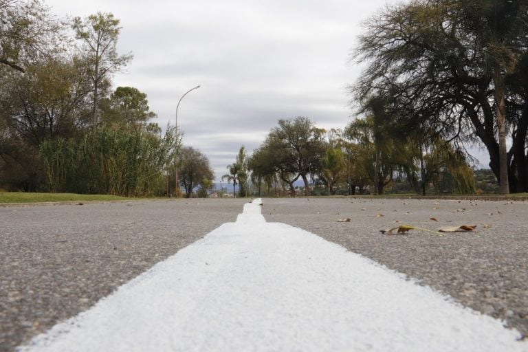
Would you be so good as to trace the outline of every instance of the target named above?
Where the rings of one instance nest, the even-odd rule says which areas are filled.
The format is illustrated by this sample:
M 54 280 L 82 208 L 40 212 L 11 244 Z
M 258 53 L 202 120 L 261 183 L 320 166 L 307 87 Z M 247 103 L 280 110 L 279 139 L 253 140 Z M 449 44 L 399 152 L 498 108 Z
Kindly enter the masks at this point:
M 72 137 L 87 122 L 89 87 L 75 60 L 50 58 L 1 82 L 4 118 L 24 142 L 39 146 L 46 138 Z

